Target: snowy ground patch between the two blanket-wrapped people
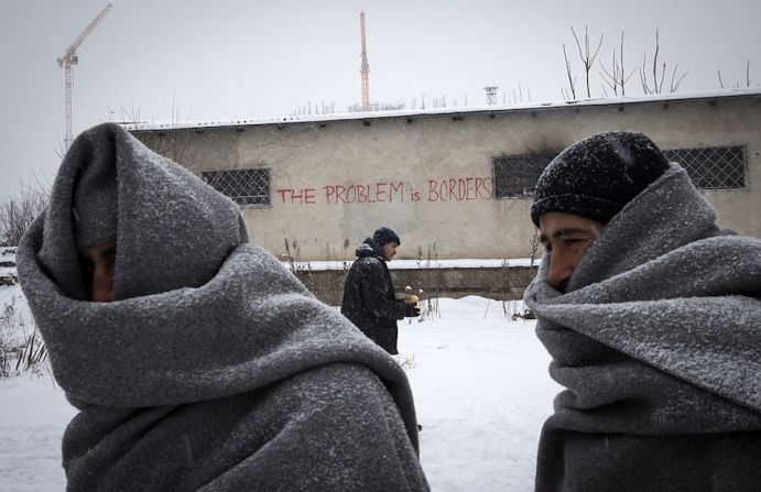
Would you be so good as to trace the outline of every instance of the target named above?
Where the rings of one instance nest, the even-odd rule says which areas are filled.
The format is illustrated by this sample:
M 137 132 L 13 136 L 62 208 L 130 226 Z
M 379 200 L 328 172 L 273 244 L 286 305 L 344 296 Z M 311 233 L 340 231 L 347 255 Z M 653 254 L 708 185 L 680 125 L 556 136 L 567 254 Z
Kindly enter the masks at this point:
M 533 490 L 539 433 L 559 386 L 535 321 L 481 297 L 439 299 L 441 318 L 400 325 L 433 491 Z

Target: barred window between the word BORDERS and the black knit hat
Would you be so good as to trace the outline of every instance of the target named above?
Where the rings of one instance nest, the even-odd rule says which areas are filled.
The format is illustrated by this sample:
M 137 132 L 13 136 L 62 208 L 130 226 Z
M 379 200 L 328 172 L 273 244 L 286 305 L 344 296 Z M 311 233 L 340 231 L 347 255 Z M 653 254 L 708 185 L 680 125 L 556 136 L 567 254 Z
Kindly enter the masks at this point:
M 533 196 L 542 171 L 555 155 L 501 155 L 493 157 L 494 197 L 514 198 Z

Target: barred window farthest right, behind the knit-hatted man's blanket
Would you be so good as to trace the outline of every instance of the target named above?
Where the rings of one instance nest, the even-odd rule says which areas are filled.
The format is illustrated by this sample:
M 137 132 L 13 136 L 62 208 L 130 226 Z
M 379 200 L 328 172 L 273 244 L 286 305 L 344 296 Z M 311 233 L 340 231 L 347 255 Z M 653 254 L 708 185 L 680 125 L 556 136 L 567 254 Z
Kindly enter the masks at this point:
M 673 149 L 663 153 L 668 161 L 678 163 L 687 171 L 696 188 L 746 187 L 748 157 L 744 145 Z

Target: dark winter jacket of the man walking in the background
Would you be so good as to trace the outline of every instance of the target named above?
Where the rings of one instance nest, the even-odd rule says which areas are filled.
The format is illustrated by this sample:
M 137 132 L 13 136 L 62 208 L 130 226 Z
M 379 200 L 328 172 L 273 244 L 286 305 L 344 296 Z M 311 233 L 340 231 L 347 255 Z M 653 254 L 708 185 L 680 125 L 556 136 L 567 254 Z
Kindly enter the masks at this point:
M 396 320 L 404 318 L 404 302 L 398 300 L 383 250 L 371 238 L 357 248 L 346 284 L 341 314 L 372 341 L 396 354 Z

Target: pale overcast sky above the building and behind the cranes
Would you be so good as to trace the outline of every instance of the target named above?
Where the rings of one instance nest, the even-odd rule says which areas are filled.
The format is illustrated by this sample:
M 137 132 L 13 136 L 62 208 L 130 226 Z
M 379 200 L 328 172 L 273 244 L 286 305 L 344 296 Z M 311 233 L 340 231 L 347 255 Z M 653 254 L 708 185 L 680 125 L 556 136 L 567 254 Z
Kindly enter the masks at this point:
M 65 134 L 64 70 L 56 64 L 106 0 L 0 0 L 0 200 L 20 182 L 52 181 Z M 680 92 L 761 87 L 758 0 L 112 0 L 77 51 L 74 133 L 104 122 L 207 121 L 285 116 L 300 106 L 360 101 L 359 12 L 367 15 L 370 99 L 426 107 L 504 97 L 563 99 L 563 43 L 583 75 L 570 26 L 605 35 L 610 65 L 624 33 L 624 67 L 660 59 L 689 72 Z M 599 65 L 591 92 L 602 96 Z M 666 81 L 666 85 L 668 81 Z M 628 95 L 642 94 L 639 75 Z

